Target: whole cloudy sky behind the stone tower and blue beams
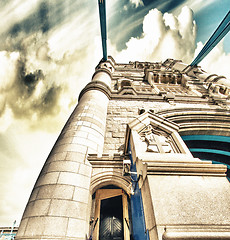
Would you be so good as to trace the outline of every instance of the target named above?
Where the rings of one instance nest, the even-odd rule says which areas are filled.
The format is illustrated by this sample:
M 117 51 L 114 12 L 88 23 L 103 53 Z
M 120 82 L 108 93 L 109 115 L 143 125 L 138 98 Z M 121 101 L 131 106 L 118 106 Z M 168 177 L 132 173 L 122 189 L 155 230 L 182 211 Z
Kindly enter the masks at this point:
M 107 0 L 108 54 L 189 64 L 228 11 L 229 0 Z M 0 17 L 0 226 L 11 226 L 102 50 L 97 0 L 0 0 Z M 200 64 L 228 78 L 229 35 Z

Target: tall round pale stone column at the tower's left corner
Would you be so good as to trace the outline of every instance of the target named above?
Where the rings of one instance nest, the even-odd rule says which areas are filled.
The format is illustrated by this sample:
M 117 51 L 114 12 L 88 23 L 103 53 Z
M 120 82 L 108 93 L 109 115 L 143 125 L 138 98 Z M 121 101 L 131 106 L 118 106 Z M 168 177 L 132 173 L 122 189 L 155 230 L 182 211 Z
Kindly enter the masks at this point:
M 86 239 L 91 180 L 87 155 L 103 151 L 111 71 L 109 61 L 101 63 L 82 90 L 37 179 L 17 240 Z

